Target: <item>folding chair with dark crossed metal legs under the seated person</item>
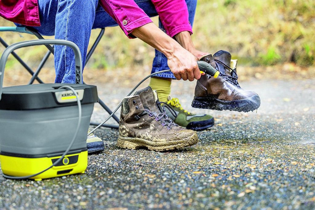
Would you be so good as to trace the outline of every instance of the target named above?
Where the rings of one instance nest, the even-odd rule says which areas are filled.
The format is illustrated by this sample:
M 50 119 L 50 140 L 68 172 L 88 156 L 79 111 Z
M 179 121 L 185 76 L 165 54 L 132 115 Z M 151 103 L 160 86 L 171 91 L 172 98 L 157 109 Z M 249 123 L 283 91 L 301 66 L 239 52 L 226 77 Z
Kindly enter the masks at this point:
M 0 31 L 13 31 L 13 32 L 20 32 L 20 33 L 28 33 L 35 35 L 38 39 L 44 39 L 42 35 L 40 35 L 37 31 L 34 29 L 25 27 L 25 26 L 0 26 Z M 96 46 L 100 42 L 101 37 L 103 36 L 105 31 L 105 28 L 101 28 L 100 33 L 98 37 L 95 39 L 95 42 L 93 43 L 91 49 L 89 50 L 85 64 L 89 61 L 91 55 L 94 53 Z M 0 37 L 0 43 L 7 48 L 9 45 Z M 31 74 L 31 79 L 28 84 L 32 84 L 35 80 L 37 80 L 38 83 L 44 83 L 39 77 L 38 74 L 43 68 L 43 65 L 46 63 L 46 61 L 49 58 L 50 54 L 54 54 L 54 45 L 45 45 L 48 48 L 47 53 L 44 55 L 43 59 L 39 63 L 36 71 L 33 71 L 21 58 L 18 56 L 15 52 L 12 52 L 11 54 L 14 56 L 16 60 L 20 62 L 20 64 Z M 99 104 L 103 107 L 105 111 L 108 112 L 108 114 L 112 114 L 112 111 L 110 108 L 99 98 Z M 119 118 L 116 115 L 113 115 L 112 118 L 119 124 Z M 99 123 L 90 122 L 91 125 L 99 125 Z M 118 128 L 118 125 L 111 125 L 111 124 L 103 124 L 103 127 L 107 128 Z

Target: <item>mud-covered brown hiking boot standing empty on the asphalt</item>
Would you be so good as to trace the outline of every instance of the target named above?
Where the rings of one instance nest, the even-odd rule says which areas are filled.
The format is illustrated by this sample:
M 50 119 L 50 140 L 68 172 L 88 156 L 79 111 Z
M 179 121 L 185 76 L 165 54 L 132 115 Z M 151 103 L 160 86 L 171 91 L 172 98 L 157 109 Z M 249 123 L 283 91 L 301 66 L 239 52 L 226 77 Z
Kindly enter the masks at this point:
M 198 143 L 193 130 L 173 122 L 161 106 L 156 91 L 148 86 L 123 99 L 117 146 L 125 149 L 147 147 L 164 151 L 181 149 Z

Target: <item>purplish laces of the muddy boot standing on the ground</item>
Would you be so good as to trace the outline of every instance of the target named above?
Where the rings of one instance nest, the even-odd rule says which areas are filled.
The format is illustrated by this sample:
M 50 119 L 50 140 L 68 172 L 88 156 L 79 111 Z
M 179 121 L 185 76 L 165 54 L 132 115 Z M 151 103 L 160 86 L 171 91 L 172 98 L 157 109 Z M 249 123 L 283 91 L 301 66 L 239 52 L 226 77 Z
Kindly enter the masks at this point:
M 157 105 L 160 105 L 160 104 L 166 104 L 165 102 L 157 102 L 156 103 Z M 160 112 L 156 115 L 156 113 L 153 113 L 152 111 L 148 110 L 148 109 L 144 109 L 145 111 L 148 112 L 147 115 L 149 115 L 150 117 L 153 116 L 155 117 L 155 120 L 156 121 L 160 121 L 162 122 L 161 125 L 162 126 L 166 126 L 166 128 L 168 130 L 170 130 L 172 127 L 174 126 L 178 126 L 175 122 L 173 122 L 172 119 L 170 119 L 167 114 L 166 114 L 166 111 L 165 111 L 165 107 L 169 109 L 169 111 L 171 112 L 171 114 L 175 117 L 177 117 L 177 114 L 176 112 L 173 110 L 172 107 L 170 107 L 168 104 L 166 104 L 167 106 L 163 106 L 163 112 Z

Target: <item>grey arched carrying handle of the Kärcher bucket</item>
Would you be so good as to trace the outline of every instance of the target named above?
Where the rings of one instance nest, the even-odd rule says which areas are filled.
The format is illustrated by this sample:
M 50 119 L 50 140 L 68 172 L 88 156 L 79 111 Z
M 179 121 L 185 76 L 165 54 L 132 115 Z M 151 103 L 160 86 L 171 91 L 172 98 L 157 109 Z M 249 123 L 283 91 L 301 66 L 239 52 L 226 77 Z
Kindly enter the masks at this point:
M 78 46 L 68 40 L 62 40 L 62 39 L 40 39 L 40 40 L 29 40 L 29 41 L 23 41 L 18 42 L 9 45 L 4 51 L 0 59 L 0 100 L 2 95 L 2 84 L 3 84 L 3 74 L 4 74 L 4 68 L 5 64 L 8 60 L 9 54 L 11 54 L 15 49 L 23 48 L 23 47 L 29 47 L 33 45 L 45 45 L 45 44 L 54 44 L 54 45 L 65 45 L 70 48 L 72 48 L 74 52 L 74 59 L 75 59 L 75 65 L 76 65 L 76 83 L 82 84 L 82 58 L 81 58 L 81 52 Z

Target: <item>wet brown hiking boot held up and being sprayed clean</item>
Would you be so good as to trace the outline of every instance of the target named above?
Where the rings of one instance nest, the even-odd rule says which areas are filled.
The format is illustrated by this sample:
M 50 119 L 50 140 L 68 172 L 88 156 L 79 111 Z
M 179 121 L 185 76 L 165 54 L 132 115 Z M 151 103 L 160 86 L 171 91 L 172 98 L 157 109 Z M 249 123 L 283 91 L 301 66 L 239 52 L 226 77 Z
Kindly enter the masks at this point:
M 217 78 L 202 75 L 197 81 L 192 107 L 212 110 L 254 111 L 260 106 L 260 97 L 252 91 L 243 90 L 238 84 L 237 60 L 224 50 L 205 55 L 206 61 L 220 71 Z

